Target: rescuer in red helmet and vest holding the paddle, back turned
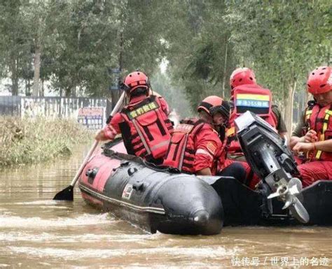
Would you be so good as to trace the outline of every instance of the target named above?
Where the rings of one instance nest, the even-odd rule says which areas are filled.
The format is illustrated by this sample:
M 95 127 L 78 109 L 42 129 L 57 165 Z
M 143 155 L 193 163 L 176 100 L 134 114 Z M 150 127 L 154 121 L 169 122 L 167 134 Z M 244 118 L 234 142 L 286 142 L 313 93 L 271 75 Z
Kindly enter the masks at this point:
M 121 133 L 128 154 L 160 164 L 165 157 L 172 122 L 165 99 L 151 94 L 148 77 L 134 71 L 125 77 L 121 86 L 129 103 L 100 130 L 96 140 L 113 140 Z

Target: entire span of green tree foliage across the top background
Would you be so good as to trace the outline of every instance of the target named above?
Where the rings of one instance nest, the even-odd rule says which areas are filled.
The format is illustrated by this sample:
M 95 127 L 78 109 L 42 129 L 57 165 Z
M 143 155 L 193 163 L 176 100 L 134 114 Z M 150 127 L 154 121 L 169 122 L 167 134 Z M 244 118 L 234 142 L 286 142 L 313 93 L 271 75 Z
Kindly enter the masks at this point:
M 106 96 L 111 68 L 151 75 L 166 58 L 172 87 L 195 108 L 209 94 L 228 98 L 230 73 L 248 66 L 284 106 L 329 63 L 331 17 L 328 0 L 2 0 L 0 76 L 18 94 L 40 45 L 42 80 L 67 96 Z

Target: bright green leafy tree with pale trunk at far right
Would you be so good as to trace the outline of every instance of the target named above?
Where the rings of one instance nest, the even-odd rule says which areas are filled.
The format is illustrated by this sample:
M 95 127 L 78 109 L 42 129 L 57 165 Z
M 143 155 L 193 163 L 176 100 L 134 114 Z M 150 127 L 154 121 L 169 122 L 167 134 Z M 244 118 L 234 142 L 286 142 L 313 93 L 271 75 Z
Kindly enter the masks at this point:
M 313 66 L 328 59 L 328 5 L 328 1 L 284 0 L 228 3 L 240 62 L 254 68 L 258 82 L 272 89 L 289 131 L 298 85 L 304 84 Z

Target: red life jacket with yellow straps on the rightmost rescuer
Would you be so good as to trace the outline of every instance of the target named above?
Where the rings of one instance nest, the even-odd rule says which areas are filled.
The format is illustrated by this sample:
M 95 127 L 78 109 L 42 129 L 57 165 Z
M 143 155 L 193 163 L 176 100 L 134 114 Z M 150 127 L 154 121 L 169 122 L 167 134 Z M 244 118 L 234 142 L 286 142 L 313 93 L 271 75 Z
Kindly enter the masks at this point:
M 314 101 L 308 102 L 305 109 L 303 136 L 309 130 L 317 132 L 318 141 L 332 139 L 332 104 L 320 107 Z M 308 152 L 307 159 L 311 161 L 332 161 L 332 152 L 314 150 L 314 152 Z

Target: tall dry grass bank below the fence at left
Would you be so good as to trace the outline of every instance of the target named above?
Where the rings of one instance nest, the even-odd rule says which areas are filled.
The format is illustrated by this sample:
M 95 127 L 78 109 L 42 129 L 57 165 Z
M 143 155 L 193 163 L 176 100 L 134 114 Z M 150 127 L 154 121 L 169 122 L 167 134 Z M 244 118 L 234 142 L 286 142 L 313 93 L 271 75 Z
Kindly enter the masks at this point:
M 72 119 L 0 116 L 0 167 L 70 155 L 74 145 L 91 139 L 91 132 Z

